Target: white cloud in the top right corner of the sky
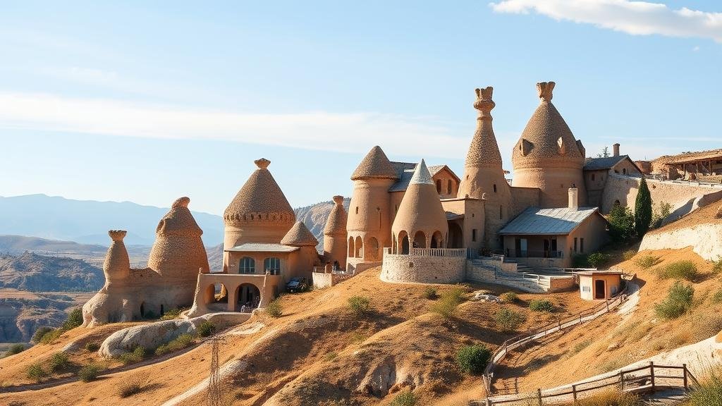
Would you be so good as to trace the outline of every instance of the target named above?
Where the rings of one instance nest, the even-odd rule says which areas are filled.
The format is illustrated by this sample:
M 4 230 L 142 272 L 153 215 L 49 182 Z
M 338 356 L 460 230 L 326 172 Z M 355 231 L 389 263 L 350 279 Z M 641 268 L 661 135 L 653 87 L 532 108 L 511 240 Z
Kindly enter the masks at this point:
M 665 4 L 629 0 L 503 0 L 490 3 L 495 12 L 536 12 L 554 20 L 570 20 L 631 35 L 711 38 L 722 43 L 722 13 L 670 9 Z

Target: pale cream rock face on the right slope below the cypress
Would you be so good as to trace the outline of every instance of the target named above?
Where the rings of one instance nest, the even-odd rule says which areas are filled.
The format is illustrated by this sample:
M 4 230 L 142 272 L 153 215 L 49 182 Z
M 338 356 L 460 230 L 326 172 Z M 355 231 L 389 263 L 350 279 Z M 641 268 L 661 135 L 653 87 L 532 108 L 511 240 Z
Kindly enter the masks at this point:
M 708 261 L 722 259 L 722 224 L 700 224 L 667 232 L 648 233 L 642 239 L 639 250 L 683 249 L 688 246 L 692 246 L 697 255 Z

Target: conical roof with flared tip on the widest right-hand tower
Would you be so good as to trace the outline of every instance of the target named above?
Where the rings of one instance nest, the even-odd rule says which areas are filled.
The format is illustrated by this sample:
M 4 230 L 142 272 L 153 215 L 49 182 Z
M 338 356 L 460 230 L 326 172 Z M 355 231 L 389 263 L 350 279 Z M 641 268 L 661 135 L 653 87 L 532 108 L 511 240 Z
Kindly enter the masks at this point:
M 584 164 L 584 155 L 572 131 L 552 104 L 554 82 L 536 84 L 541 103 L 529 118 L 512 154 L 514 167 L 544 163 Z

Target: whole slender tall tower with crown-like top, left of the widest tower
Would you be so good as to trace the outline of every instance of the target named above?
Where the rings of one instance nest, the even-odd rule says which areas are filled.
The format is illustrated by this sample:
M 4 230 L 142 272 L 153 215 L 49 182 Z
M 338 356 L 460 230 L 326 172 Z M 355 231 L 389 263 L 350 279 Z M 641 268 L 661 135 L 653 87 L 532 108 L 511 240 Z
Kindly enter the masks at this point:
M 511 191 L 504 176 L 501 154 L 492 128 L 493 87 L 477 89 L 474 108 L 479 111 L 477 130 L 471 139 L 464 163 L 464 176 L 458 187 L 458 197 L 484 197 L 484 238 L 488 249 L 497 249 L 501 241 L 497 232 L 510 217 Z M 471 219 L 469 219 L 471 220 Z

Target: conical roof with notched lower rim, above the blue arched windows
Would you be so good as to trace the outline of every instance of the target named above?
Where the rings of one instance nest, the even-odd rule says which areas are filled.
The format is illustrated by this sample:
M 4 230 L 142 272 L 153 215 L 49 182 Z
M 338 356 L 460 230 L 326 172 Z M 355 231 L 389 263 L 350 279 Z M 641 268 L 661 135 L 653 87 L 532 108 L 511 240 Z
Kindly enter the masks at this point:
M 283 191 L 268 170 L 271 161 L 253 161 L 258 169 L 251 173 L 238 194 L 223 212 L 226 224 L 246 221 L 292 222 L 295 214 Z

